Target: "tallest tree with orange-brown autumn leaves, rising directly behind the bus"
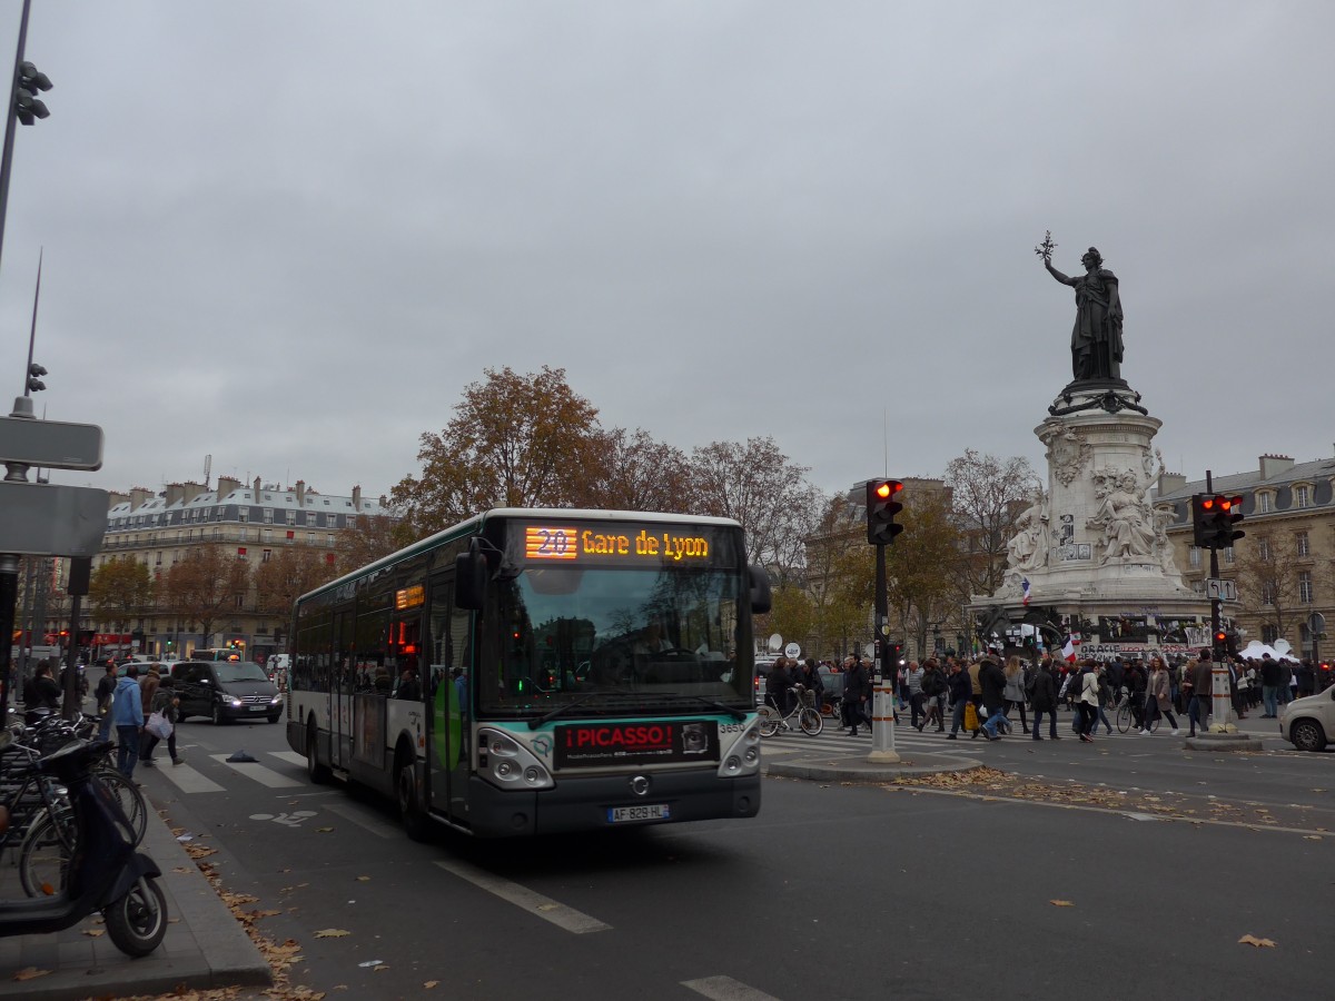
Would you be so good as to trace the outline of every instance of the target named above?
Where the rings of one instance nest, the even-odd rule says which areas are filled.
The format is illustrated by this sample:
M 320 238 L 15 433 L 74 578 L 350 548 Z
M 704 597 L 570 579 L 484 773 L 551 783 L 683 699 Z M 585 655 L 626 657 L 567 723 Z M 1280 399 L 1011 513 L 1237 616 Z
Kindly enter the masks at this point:
M 583 498 L 579 470 L 598 440 L 598 411 L 563 368 L 486 370 L 441 434 L 423 434 L 419 476 L 391 494 L 403 533 L 422 538 L 490 507 L 562 507 Z

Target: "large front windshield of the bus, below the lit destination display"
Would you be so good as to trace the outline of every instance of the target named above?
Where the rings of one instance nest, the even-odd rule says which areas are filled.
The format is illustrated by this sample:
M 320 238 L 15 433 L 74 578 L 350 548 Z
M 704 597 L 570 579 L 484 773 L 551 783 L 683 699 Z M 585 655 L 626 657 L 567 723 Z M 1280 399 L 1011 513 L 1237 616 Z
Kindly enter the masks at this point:
M 498 581 L 482 618 L 479 711 L 546 713 L 577 699 L 581 713 L 750 710 L 750 650 L 737 659 L 745 587 L 720 566 L 519 570 Z

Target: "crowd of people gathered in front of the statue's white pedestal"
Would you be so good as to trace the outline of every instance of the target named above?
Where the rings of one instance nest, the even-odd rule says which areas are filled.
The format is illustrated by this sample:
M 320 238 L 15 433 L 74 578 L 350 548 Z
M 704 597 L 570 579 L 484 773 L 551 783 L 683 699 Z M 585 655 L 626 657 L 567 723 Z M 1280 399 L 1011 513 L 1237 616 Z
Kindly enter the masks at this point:
M 1262 719 L 1274 719 L 1279 709 L 1304 695 L 1324 691 L 1335 682 L 1331 671 L 1311 661 L 1290 661 L 1264 654 L 1260 659 L 1224 657 L 1218 663 L 1208 649 L 1193 658 L 1169 662 L 1153 654 L 1148 659 L 1120 657 L 1111 661 L 1068 662 L 1044 655 L 1037 662 L 997 654 L 979 657 L 929 657 L 922 662 L 906 661 L 896 670 L 894 722 L 900 711 L 909 714 L 909 725 L 920 733 L 928 729 L 959 739 L 961 731 L 976 739 L 996 741 L 1013 733 L 1019 722 L 1021 734 L 1035 741 L 1061 739 L 1057 733 L 1057 710 L 1072 713 L 1072 735 L 1092 743 L 1099 729 L 1113 731 L 1109 711 L 1125 699 L 1137 734 L 1153 733 L 1156 723 L 1167 722 L 1173 734 L 1181 731 L 1185 718 L 1188 737 L 1208 727 L 1214 710 L 1214 670 L 1228 671 L 1232 710 L 1239 719 L 1263 710 Z M 842 694 L 825 695 L 822 678 L 832 673 L 842 677 Z M 814 693 L 816 705 L 822 699 L 850 737 L 872 729 L 873 665 L 868 658 L 848 657 L 841 667 L 830 662 L 818 665 L 780 658 L 766 678 L 766 699 L 780 711 L 792 707 L 798 686 Z M 972 710 L 972 713 L 971 713 Z M 1029 714 L 1033 721 L 1031 726 Z M 947 733 L 949 721 L 949 733 Z M 1047 722 L 1047 727 L 1044 727 Z

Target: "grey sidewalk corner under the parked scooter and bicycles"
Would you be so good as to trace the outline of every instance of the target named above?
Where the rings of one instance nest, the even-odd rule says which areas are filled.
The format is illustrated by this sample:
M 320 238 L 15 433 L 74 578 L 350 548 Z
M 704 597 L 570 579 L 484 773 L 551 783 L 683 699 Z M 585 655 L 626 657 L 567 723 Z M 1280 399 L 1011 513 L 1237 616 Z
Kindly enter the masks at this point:
M 158 994 L 178 986 L 267 986 L 272 982 L 259 949 L 152 803 L 140 850 L 163 872 L 158 882 L 167 897 L 171 921 L 154 954 L 134 960 L 116 949 L 105 934 L 89 936 L 91 930 L 103 930 L 99 916 L 56 934 L 0 938 L 0 998 L 67 1001 Z M 0 901 L 21 894 L 11 856 L 0 866 Z M 21 972 L 31 976 L 32 970 L 44 973 L 16 980 Z

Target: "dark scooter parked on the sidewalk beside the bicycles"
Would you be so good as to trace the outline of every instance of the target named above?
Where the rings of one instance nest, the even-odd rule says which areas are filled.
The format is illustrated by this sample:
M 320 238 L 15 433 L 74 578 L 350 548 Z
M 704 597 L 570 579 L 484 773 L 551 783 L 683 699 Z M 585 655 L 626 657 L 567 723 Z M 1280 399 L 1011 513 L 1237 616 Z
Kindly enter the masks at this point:
M 0 746 L 9 739 L 8 731 L 0 733 Z M 71 862 L 55 896 L 0 901 L 0 937 L 60 932 L 99 910 L 108 937 L 127 956 L 148 956 L 167 934 L 167 900 L 156 882 L 162 870 L 135 850 L 124 811 L 92 778 L 105 747 L 101 741 L 73 741 L 33 766 L 69 790 Z M 0 825 L 8 819 L 0 807 Z

